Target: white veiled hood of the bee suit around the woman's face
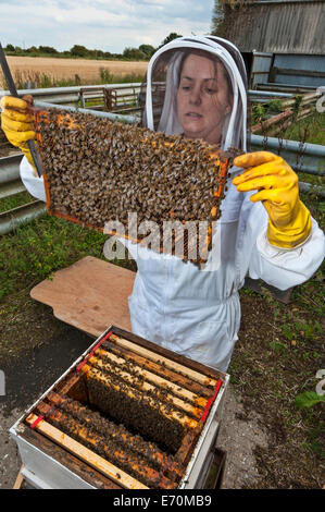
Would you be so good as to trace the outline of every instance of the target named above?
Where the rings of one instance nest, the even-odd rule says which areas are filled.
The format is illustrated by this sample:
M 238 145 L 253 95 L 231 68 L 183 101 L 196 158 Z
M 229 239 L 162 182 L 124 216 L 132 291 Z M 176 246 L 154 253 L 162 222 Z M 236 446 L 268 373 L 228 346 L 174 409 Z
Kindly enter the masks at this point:
M 247 150 L 247 75 L 239 50 L 229 41 L 215 36 L 179 37 L 160 48 L 150 59 L 142 85 L 140 102 L 142 125 L 167 135 L 183 133 L 177 117 L 176 94 L 179 68 L 184 54 L 203 50 L 215 56 L 228 74 L 233 87 L 233 109 L 225 115 L 222 148 L 230 146 Z M 209 56 L 210 57 L 210 56 Z

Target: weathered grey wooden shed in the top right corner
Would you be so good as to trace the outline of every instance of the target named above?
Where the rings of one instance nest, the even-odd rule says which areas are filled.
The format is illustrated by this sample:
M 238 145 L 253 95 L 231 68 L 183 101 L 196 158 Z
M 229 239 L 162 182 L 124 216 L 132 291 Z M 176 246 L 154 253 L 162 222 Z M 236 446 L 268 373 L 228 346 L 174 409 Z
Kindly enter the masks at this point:
M 325 0 L 216 0 L 213 33 L 240 49 L 252 87 L 325 85 Z

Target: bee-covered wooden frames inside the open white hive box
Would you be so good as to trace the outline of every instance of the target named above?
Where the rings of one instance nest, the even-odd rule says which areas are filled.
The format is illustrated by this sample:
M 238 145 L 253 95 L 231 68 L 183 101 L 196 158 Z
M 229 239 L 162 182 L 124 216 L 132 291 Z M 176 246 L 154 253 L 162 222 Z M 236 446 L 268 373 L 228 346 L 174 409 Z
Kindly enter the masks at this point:
M 152 441 L 150 432 L 143 436 L 139 425 L 133 428 L 135 416 L 127 427 L 121 427 L 118 417 L 117 420 L 116 417 L 112 418 L 107 414 L 107 409 L 103 413 L 100 397 L 93 395 L 93 389 L 88 386 L 91 378 L 89 369 L 96 367 L 96 358 L 103 363 L 102 352 L 109 352 L 111 361 L 120 366 L 118 371 L 124 374 L 123 380 L 127 382 L 120 393 L 120 407 L 123 409 L 129 385 L 137 390 L 136 401 L 141 390 L 150 393 L 149 388 L 153 386 L 162 392 L 151 393 L 153 400 L 158 398 L 158 402 L 163 404 L 159 414 L 166 415 L 166 418 L 173 416 L 173 412 L 179 412 L 183 435 L 173 432 L 173 429 L 167 431 L 171 438 L 174 434 L 179 436 L 176 444 L 171 442 L 167 448 L 162 447 L 157 438 Z M 121 366 L 118 359 L 122 358 L 127 361 L 127 365 Z M 136 370 L 137 376 L 129 373 L 127 377 L 126 370 L 130 371 L 132 366 L 140 370 Z M 110 379 L 109 375 L 104 381 L 110 386 L 107 379 Z M 111 327 L 29 411 L 25 420 L 33 427 L 30 435 L 46 436 L 117 486 L 177 488 L 222 385 L 218 371 Z M 150 407 L 150 403 L 140 407 L 145 416 L 146 407 Z M 150 420 L 150 415 L 146 420 Z M 153 420 L 158 428 L 157 414 Z M 166 427 L 165 423 L 163 425 Z

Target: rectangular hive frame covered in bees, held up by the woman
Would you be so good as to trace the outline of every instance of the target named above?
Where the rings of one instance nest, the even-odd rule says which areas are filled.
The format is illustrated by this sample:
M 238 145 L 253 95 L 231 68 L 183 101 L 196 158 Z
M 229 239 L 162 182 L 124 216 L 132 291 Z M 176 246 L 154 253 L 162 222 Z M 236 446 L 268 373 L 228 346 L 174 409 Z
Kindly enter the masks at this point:
M 229 167 L 236 151 L 226 155 L 200 139 L 58 109 L 40 112 L 36 131 L 51 215 L 95 229 L 118 221 L 124 233 L 111 234 L 133 240 L 136 232 L 138 243 L 146 243 L 153 221 L 159 243 L 150 239 L 149 248 L 199 266 L 207 261 L 226 184 L 220 164 Z M 136 214 L 132 221 L 129 214 Z M 166 231 L 167 221 L 173 224 Z M 191 229 L 184 229 L 189 223 Z

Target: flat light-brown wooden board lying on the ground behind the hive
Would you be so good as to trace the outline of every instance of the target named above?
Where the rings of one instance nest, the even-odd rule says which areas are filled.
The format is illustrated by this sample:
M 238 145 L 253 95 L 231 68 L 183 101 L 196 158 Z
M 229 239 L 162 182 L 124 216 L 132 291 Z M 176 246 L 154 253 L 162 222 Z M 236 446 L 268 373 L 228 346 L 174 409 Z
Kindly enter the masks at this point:
M 111 324 L 132 331 L 128 301 L 135 272 L 86 256 L 30 291 L 60 320 L 98 338 Z

